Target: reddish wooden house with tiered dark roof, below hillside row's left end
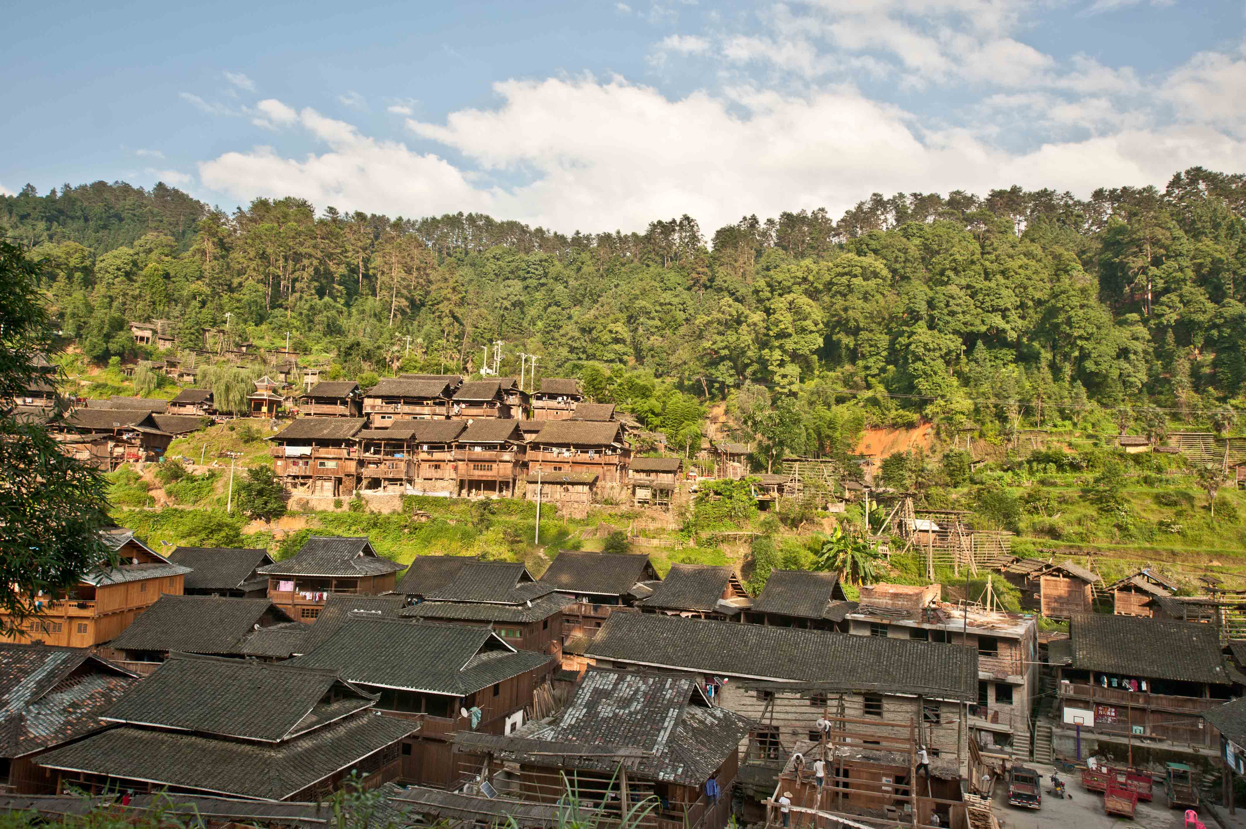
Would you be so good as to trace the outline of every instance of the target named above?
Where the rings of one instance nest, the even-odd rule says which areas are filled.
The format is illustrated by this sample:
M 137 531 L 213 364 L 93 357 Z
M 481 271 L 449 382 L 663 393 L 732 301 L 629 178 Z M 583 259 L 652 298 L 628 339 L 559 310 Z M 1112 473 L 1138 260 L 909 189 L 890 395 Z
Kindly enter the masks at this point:
M 293 558 L 260 567 L 268 597 L 293 618 L 313 622 L 334 593 L 375 596 L 394 590 L 397 571 L 366 537 L 312 536 Z

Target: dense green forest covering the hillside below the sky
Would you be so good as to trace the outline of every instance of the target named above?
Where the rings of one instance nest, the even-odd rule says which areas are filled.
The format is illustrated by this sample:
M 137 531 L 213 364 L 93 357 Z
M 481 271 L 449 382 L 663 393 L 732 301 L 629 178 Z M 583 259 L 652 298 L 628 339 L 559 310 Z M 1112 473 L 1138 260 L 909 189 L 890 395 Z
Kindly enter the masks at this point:
M 412 204 L 412 211 L 419 211 Z M 482 345 L 540 357 L 597 399 L 692 439 L 729 399 L 769 451 L 844 451 L 865 424 L 947 433 L 1060 423 L 1232 428 L 1246 408 L 1246 176 L 1191 168 L 1164 191 L 1089 199 L 873 196 L 744 217 L 706 237 L 554 233 L 487 216 L 390 218 L 298 198 L 227 213 L 158 184 L 0 197 L 86 359 L 229 327 L 346 376 L 472 370 Z M 1160 424 L 1160 425 L 1156 425 Z

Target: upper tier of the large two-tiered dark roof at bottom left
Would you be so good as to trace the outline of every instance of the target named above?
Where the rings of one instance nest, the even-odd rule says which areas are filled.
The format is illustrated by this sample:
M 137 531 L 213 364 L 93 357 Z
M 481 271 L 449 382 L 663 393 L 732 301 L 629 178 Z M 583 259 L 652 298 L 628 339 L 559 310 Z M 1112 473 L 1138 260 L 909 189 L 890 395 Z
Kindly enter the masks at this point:
M 346 693 L 323 703 L 335 684 Z M 331 669 L 176 653 L 105 712 L 105 718 L 277 743 L 334 716 L 371 707 L 374 701 Z

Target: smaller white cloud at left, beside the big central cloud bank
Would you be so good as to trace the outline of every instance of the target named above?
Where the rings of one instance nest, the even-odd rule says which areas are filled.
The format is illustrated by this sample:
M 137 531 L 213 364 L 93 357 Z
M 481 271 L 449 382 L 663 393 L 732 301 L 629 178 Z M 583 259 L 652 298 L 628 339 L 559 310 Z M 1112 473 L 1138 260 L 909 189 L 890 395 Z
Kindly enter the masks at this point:
M 199 162 L 199 181 L 240 202 L 258 196 L 300 196 L 318 206 L 390 216 L 487 212 L 493 207 L 490 192 L 473 188 L 462 172 L 435 155 L 363 136 L 354 126 L 312 108 L 298 112 L 295 123 L 324 145 L 325 152 L 303 160 L 282 157 L 269 146 L 227 152 Z

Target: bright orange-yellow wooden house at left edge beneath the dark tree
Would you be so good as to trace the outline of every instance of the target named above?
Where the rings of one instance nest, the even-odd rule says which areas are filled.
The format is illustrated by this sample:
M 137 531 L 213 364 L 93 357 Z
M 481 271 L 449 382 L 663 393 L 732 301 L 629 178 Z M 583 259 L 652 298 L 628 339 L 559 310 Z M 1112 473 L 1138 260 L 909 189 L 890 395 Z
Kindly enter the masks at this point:
M 162 595 L 182 595 L 188 567 L 155 552 L 130 530 L 108 530 L 101 539 L 118 563 L 87 571 L 65 595 L 36 596 L 39 615 L 24 620 L 17 630 L 0 610 L 0 640 L 96 647 L 118 636 Z

